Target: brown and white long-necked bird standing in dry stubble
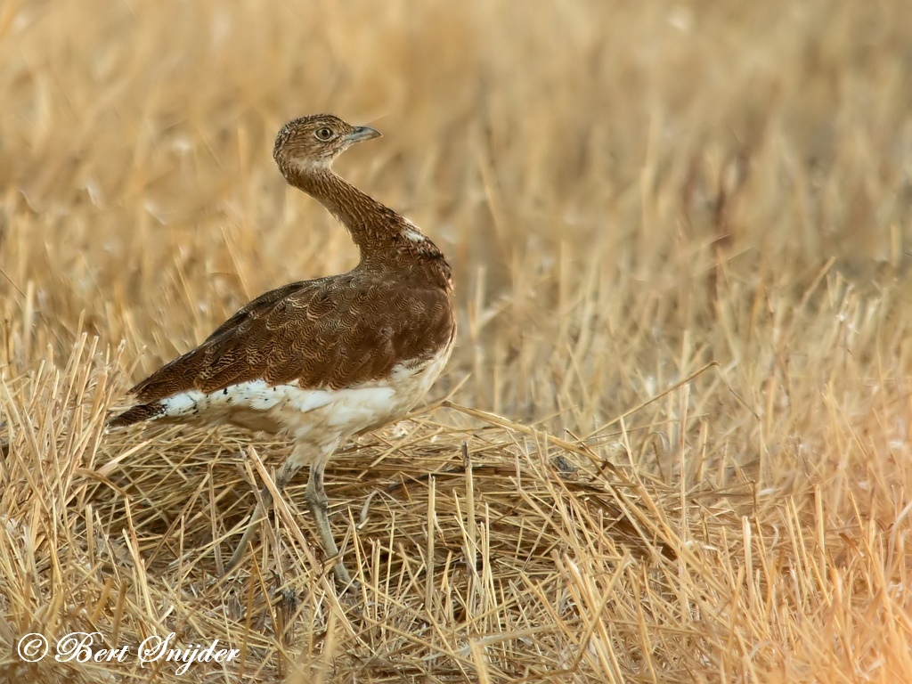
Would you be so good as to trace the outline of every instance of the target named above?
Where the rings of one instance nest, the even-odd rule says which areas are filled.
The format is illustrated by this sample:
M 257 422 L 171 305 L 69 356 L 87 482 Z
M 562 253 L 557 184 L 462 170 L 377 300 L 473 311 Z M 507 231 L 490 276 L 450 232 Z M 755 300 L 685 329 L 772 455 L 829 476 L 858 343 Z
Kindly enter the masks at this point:
M 256 297 L 199 347 L 129 390 L 112 428 L 137 423 L 233 424 L 293 444 L 275 473 L 282 492 L 309 467 L 307 508 L 337 582 L 351 586 L 326 513 L 324 470 L 340 444 L 400 420 L 427 393 L 456 336 L 451 266 L 415 223 L 332 171 L 351 145 L 378 138 L 329 114 L 289 121 L 273 158 L 285 181 L 323 204 L 357 245 L 347 273 Z M 243 559 L 272 504 L 264 486 L 226 566 Z

